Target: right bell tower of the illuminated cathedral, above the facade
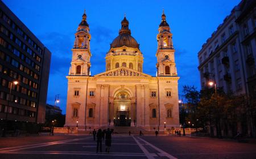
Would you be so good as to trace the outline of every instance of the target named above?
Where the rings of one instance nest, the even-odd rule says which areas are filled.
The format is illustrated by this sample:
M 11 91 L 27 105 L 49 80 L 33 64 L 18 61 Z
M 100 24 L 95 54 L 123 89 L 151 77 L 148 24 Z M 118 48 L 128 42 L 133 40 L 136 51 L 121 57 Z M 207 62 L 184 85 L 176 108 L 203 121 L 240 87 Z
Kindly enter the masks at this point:
M 177 76 L 172 33 L 169 24 L 166 21 L 164 10 L 158 32 L 159 33 L 156 36 L 156 40 L 158 41 L 158 50 L 156 51 L 157 76 Z

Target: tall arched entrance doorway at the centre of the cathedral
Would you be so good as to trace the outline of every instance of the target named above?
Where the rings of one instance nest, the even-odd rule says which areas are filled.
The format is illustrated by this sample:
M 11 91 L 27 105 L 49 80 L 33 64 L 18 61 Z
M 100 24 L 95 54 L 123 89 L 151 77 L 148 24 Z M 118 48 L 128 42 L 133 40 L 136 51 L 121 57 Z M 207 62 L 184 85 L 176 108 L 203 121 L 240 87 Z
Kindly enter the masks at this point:
M 126 91 L 114 97 L 114 126 L 131 125 L 131 96 Z

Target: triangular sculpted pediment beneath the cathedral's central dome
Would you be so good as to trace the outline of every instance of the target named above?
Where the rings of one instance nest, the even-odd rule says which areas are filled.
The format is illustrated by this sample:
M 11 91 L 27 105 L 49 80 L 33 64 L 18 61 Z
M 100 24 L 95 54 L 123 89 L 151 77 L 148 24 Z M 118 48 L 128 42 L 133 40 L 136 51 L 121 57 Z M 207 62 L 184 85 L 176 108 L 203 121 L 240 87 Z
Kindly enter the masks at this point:
M 118 67 L 114 68 L 113 70 L 109 70 L 106 72 L 102 72 L 100 74 L 94 75 L 94 76 L 144 76 L 144 77 L 151 77 L 150 75 L 144 74 L 142 72 L 133 70 L 131 68 L 127 67 Z

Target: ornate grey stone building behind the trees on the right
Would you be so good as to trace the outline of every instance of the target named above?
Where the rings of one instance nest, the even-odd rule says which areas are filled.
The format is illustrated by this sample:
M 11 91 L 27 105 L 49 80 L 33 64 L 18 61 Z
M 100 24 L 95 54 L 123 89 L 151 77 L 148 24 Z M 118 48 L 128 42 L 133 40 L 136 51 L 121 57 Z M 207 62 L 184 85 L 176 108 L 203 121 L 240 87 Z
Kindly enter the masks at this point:
M 202 46 L 198 53 L 201 89 L 215 80 L 225 93 L 245 96 L 248 101 L 256 97 L 255 12 L 255 1 L 241 1 Z M 256 115 L 253 117 L 247 108 L 240 112 L 244 122 L 237 124 L 237 131 L 255 134 L 255 124 L 251 123 L 255 123 Z

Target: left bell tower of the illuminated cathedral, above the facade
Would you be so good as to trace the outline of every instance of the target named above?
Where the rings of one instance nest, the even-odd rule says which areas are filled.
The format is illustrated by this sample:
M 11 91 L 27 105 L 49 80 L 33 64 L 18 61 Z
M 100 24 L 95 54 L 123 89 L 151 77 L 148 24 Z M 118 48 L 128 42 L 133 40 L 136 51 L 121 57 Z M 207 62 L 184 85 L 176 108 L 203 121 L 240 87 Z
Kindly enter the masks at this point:
M 69 75 L 90 75 L 90 33 L 89 25 L 86 22 L 86 14 L 82 15 L 82 22 L 75 33 L 75 42 L 72 49 L 72 62 L 69 68 Z

